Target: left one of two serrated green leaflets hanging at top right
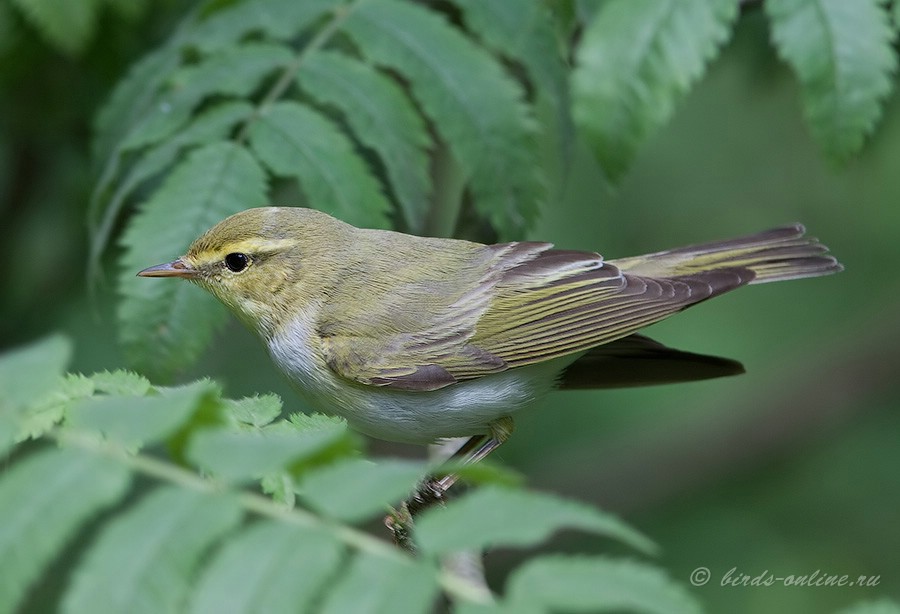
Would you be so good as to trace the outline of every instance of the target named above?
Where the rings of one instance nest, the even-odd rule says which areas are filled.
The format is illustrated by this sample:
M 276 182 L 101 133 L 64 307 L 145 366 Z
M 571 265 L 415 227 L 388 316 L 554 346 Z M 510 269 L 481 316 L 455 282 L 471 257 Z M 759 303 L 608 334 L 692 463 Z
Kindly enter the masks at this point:
M 573 113 L 610 179 L 669 119 L 737 13 L 734 0 L 609 0 L 597 11 L 577 51 Z

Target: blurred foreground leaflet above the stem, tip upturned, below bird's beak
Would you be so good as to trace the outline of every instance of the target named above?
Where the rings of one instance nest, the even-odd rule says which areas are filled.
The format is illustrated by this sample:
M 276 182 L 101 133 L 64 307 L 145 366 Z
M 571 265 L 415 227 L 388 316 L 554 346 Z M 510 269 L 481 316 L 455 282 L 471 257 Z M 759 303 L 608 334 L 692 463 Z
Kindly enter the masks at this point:
M 128 446 L 156 443 L 178 431 L 201 406 L 217 397 L 216 388 L 206 381 L 165 389 L 156 396 L 97 397 L 69 410 L 68 424 L 99 431 Z

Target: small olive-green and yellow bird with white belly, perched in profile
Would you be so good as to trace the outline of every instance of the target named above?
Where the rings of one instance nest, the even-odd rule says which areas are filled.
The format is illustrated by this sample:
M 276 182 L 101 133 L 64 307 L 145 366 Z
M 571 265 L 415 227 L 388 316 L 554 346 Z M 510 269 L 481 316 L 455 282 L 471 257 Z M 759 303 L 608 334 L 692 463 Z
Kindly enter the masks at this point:
M 484 245 L 360 229 L 295 207 L 248 209 L 144 269 L 227 305 L 313 409 L 376 438 L 471 437 L 475 459 L 555 387 L 742 372 L 634 334 L 740 286 L 842 266 L 800 224 L 605 261 L 550 243 Z

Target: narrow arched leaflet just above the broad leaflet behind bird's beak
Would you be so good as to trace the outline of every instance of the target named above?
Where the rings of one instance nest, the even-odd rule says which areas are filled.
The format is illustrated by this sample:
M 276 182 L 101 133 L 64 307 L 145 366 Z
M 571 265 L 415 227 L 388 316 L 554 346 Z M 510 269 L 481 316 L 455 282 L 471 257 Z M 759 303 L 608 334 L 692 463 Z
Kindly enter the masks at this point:
M 102 219 L 91 234 L 91 277 L 99 266 L 119 213 L 134 191 L 169 168 L 185 150 L 221 141 L 235 124 L 247 119 L 251 113 L 253 106 L 247 102 L 231 101 L 215 105 L 199 113 L 184 130 L 141 155 L 118 182 L 109 199 L 97 205 Z

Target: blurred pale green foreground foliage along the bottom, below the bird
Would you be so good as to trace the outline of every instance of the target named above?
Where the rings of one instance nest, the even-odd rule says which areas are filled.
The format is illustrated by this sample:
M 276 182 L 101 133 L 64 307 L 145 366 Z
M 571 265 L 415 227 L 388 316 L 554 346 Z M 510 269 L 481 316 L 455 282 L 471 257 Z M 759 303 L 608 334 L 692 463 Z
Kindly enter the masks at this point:
M 363 460 L 343 421 L 277 419 L 275 398 L 223 399 L 210 381 L 166 388 L 124 371 L 61 377 L 68 352 L 51 338 L 0 358 L 0 381 L 15 378 L 19 391 L 0 413 L 0 612 L 21 606 L 76 540 L 82 551 L 59 603 L 45 609 L 427 612 L 441 591 L 460 608 L 503 608 L 537 590 L 547 609 L 698 611 L 649 563 L 559 555 L 532 558 L 510 576 L 509 603 L 490 603 L 442 571 L 440 557 L 534 546 L 563 528 L 654 546 L 586 505 L 484 486 L 421 516 L 413 558 L 354 525 L 407 496 L 424 464 Z M 262 478 L 286 486 L 269 498 Z M 557 588 L 540 591 L 535 575 Z

